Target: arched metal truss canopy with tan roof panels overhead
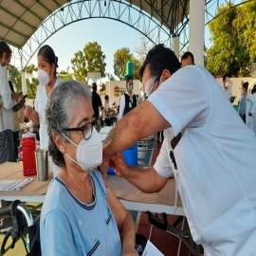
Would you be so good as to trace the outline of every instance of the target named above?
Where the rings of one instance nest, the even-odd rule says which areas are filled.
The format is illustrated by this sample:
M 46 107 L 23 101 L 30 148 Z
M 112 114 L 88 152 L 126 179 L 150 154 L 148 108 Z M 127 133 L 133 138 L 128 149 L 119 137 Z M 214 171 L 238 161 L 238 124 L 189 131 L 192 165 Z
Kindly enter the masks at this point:
M 216 17 L 220 5 L 231 9 L 249 1 L 206 0 L 205 24 Z M 189 42 L 189 6 L 189 0 L 0 0 L 0 40 L 22 49 L 28 63 L 61 28 L 85 19 L 107 18 L 137 29 L 154 44 L 171 46 L 172 38 L 180 36 L 183 50 Z

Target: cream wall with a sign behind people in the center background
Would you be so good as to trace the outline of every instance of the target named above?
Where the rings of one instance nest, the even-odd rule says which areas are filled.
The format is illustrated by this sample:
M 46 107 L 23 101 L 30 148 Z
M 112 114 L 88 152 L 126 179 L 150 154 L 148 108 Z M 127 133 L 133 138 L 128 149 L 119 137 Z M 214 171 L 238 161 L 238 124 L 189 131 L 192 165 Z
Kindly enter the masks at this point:
M 126 81 L 110 81 L 110 82 L 105 82 L 106 89 L 105 93 L 106 95 L 109 96 L 109 103 L 112 105 L 114 101 L 116 101 L 117 105 L 120 105 L 120 97 L 122 93 L 125 92 L 126 90 Z M 138 97 L 140 98 L 140 88 L 142 84 L 139 80 L 134 80 L 134 94 L 137 94 Z M 119 92 L 115 92 L 115 89 L 119 87 Z M 101 95 L 101 101 L 102 103 L 104 102 L 104 96 Z

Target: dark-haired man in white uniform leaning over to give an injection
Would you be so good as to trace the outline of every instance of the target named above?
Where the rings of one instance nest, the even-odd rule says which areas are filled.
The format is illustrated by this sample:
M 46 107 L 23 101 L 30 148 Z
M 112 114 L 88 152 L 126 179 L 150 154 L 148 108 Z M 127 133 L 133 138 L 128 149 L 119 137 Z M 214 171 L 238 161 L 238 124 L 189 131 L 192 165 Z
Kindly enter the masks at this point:
M 205 255 L 255 255 L 256 137 L 204 67 L 179 67 L 170 48 L 149 51 L 142 86 L 156 90 L 105 139 L 101 172 L 111 158 L 116 174 L 142 192 L 159 192 L 174 175 L 192 238 Z M 163 129 L 155 166 L 128 167 L 120 152 Z

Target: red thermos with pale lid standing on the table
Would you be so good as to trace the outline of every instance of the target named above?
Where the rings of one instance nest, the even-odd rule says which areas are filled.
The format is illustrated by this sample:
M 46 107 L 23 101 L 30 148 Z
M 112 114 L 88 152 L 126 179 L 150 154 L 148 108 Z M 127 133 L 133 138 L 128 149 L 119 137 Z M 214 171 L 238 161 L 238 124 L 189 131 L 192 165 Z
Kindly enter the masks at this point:
M 23 153 L 23 174 L 25 176 L 36 175 L 36 135 L 22 135 L 22 153 Z

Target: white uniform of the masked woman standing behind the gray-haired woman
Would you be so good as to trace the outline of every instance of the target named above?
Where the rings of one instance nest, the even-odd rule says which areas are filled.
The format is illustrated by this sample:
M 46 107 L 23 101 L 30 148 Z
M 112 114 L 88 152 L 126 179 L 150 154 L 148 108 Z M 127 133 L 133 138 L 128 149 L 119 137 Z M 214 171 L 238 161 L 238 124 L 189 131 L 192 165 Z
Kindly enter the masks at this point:
M 54 86 L 58 85 L 62 82 L 59 78 L 57 78 Z M 46 86 L 38 85 L 35 99 L 35 110 L 39 115 L 40 129 L 40 149 L 48 149 L 48 134 L 46 127 L 46 103 L 48 101 L 48 97 L 46 94 Z

